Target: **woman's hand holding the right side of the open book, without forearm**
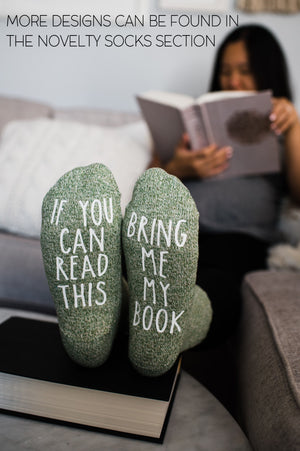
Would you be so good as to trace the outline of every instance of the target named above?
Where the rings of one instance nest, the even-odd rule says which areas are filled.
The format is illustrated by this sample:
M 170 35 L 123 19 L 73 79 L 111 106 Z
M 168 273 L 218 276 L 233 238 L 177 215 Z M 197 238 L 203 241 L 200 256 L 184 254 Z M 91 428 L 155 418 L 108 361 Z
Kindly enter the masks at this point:
M 292 102 L 284 97 L 273 98 L 272 103 L 271 128 L 277 135 L 286 134 L 299 122 L 297 111 Z

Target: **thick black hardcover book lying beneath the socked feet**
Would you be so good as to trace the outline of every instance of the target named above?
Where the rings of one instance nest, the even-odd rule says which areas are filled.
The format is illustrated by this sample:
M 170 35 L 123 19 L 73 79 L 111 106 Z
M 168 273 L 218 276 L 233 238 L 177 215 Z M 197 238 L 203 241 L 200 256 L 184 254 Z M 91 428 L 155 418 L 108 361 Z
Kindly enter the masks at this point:
M 116 341 L 101 367 L 65 353 L 56 323 L 12 317 L 0 325 L 0 409 L 162 441 L 180 359 L 166 374 L 139 375 Z

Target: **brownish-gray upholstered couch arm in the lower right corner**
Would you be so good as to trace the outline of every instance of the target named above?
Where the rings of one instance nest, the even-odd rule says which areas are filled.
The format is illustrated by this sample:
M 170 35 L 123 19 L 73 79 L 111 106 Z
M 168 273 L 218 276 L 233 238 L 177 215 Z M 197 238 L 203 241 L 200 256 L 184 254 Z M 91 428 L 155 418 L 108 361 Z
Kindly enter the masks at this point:
M 300 277 L 248 274 L 239 331 L 241 418 L 257 450 L 300 449 Z

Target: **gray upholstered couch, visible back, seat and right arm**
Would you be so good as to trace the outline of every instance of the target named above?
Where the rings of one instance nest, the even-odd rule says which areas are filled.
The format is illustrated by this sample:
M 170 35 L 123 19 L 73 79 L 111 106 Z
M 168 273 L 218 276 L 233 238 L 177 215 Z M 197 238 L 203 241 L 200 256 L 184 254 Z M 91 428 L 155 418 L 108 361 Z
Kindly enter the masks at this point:
M 0 130 L 13 119 L 73 119 L 118 125 L 134 114 L 54 110 L 0 98 Z M 5 194 L 4 194 L 5 195 Z M 254 449 L 300 449 L 300 275 L 264 271 L 246 276 L 236 358 L 239 420 Z M 54 312 L 38 239 L 0 231 L 0 305 Z

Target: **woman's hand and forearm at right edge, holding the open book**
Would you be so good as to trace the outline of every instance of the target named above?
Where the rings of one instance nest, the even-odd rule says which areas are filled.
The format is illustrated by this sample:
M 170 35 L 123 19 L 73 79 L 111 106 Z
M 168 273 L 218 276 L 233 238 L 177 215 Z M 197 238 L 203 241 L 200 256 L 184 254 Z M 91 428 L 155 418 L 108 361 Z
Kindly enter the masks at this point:
M 294 105 L 285 98 L 273 99 L 272 129 L 285 138 L 285 160 L 290 194 L 300 202 L 300 121 Z

